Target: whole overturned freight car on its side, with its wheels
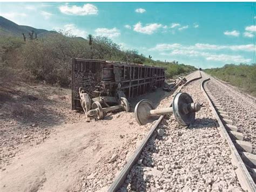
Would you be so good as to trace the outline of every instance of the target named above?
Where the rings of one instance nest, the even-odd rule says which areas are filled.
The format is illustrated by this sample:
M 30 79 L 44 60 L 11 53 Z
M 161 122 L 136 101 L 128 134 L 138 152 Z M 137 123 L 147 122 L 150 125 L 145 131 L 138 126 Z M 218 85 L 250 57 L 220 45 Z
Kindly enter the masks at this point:
M 163 87 L 164 70 L 119 61 L 72 58 L 72 109 L 84 110 L 89 116 L 95 115 L 96 109 L 101 114 L 118 109 L 115 105 L 129 111 L 126 98 Z

